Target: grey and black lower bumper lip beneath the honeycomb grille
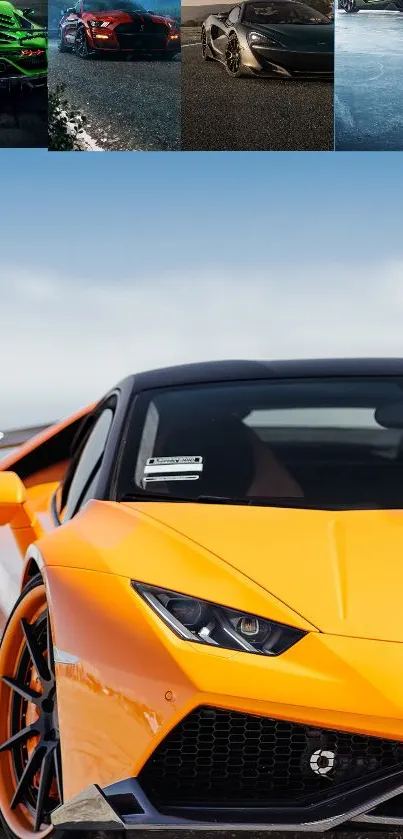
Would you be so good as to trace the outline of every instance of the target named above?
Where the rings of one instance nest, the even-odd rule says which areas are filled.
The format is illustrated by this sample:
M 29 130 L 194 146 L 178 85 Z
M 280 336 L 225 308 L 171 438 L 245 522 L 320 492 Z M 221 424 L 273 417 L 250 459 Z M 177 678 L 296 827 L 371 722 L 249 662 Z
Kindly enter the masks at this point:
M 328 799 L 326 806 L 310 805 L 304 809 L 257 810 L 238 808 L 210 812 L 203 818 L 167 816 L 153 807 L 135 778 L 121 781 L 101 790 L 92 785 L 52 813 L 52 824 L 57 831 L 139 831 L 157 830 L 167 839 L 175 839 L 179 832 L 189 836 L 203 831 L 206 839 L 211 832 L 230 839 L 245 831 L 255 839 L 271 831 L 324 832 L 343 826 L 354 827 L 355 822 L 367 825 L 403 825 L 403 804 L 400 816 L 388 817 L 378 813 L 388 802 L 403 793 L 403 768 L 382 779 L 358 786 L 349 794 Z

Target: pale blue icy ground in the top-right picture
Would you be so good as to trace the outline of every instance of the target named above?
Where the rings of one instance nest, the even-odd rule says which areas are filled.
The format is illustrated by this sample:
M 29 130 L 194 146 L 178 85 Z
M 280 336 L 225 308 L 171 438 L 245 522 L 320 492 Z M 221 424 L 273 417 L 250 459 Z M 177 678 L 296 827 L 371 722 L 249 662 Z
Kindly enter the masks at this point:
M 403 150 L 403 14 L 336 17 L 338 150 Z

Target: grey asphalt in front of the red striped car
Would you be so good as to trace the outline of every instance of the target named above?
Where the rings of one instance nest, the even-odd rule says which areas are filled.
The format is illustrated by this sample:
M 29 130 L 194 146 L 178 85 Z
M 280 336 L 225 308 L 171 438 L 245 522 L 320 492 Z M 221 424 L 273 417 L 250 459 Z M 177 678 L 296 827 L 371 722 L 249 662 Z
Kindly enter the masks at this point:
M 65 85 L 65 97 L 102 149 L 170 151 L 180 147 L 180 66 L 180 57 L 83 61 L 52 42 L 49 87 Z

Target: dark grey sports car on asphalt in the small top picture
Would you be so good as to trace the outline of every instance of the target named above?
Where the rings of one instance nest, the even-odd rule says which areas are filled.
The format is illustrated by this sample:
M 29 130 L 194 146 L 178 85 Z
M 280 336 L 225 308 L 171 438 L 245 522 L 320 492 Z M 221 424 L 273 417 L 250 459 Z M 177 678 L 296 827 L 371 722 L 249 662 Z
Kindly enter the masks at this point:
M 201 31 L 202 56 L 230 76 L 333 79 L 334 22 L 297 0 L 245 0 L 212 14 Z

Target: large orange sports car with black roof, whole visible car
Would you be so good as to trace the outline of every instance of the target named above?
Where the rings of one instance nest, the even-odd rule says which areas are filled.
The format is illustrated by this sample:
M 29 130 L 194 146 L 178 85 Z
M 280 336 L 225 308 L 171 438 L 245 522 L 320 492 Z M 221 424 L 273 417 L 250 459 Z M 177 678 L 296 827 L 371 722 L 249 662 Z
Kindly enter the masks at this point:
M 10 837 L 403 825 L 403 360 L 131 376 L 0 525 Z

